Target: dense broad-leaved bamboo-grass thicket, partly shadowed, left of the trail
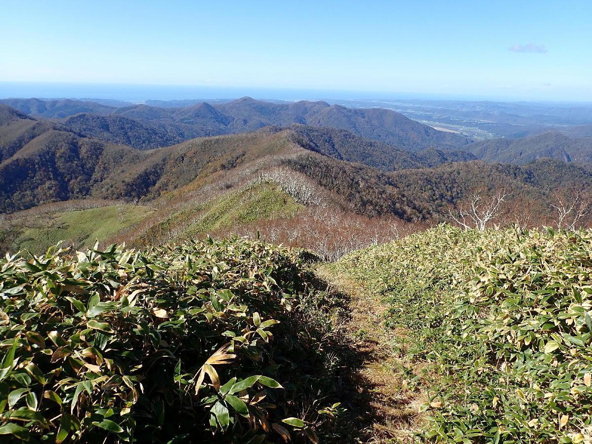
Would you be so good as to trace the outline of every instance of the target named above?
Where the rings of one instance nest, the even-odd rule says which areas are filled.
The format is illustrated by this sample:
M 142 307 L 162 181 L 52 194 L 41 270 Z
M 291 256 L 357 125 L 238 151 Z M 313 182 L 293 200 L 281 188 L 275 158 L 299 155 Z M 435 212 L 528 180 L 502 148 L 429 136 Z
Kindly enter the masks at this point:
M 0 259 L 0 440 L 316 442 L 315 297 L 291 250 L 243 239 Z

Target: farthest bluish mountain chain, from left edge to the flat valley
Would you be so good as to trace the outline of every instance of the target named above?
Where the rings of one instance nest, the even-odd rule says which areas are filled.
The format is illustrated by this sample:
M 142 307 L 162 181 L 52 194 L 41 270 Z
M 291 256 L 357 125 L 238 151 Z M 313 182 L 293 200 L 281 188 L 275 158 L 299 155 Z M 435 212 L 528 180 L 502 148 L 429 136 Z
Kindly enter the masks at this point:
M 79 118 L 70 123 L 73 129 L 89 136 L 96 135 L 96 123 L 101 121 L 89 114 L 103 115 L 103 126 L 107 124 L 116 127 L 116 131 L 109 136 L 110 141 L 124 144 L 131 141 L 134 147 L 140 149 L 156 147 L 162 141 L 179 142 L 195 137 L 243 133 L 269 125 L 289 126 L 294 123 L 340 128 L 367 139 L 414 151 L 429 147 L 459 149 L 472 141 L 458 134 L 435 130 L 395 111 L 379 108 L 352 109 L 326 102 L 277 104 L 243 97 L 227 103 L 202 102 L 185 108 L 159 108 L 141 104 L 110 107 L 94 102 L 40 99 L 4 99 L 0 103 L 15 107 L 33 117 L 67 119 L 85 113 L 85 119 Z M 120 122 L 118 126 L 112 115 L 128 117 L 138 123 L 126 121 L 125 124 Z M 69 124 L 68 120 L 63 123 Z M 152 130 L 148 130 L 147 126 L 153 127 Z M 147 133 L 156 131 L 157 136 L 139 143 L 133 135 L 137 128 Z

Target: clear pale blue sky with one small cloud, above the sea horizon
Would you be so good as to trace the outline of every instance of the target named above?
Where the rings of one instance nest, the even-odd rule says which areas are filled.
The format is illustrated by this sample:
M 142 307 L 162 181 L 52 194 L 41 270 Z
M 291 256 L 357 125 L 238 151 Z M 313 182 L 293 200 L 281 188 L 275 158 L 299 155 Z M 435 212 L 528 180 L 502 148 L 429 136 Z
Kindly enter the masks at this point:
M 590 0 L 0 5 L 0 82 L 592 101 Z

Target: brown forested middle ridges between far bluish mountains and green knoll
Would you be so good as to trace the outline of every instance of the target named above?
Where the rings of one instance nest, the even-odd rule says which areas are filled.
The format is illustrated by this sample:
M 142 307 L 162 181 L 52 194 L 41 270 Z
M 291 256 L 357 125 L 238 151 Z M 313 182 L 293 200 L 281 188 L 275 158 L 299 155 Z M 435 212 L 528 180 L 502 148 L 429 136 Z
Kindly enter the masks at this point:
M 0 209 L 8 213 L 79 198 L 178 201 L 190 184 L 199 189 L 226 177 L 234 186 L 276 167 L 288 168 L 288 176 L 289 171 L 308 176 L 348 211 L 404 220 L 435 217 L 477 189 L 505 188 L 543 208 L 553 189 L 590 182 L 587 169 L 564 162 L 487 165 L 466 162 L 474 159 L 468 153 L 411 152 L 345 130 L 305 125 L 136 150 L 1 109 L 0 131 L 10 137 L 0 144 Z

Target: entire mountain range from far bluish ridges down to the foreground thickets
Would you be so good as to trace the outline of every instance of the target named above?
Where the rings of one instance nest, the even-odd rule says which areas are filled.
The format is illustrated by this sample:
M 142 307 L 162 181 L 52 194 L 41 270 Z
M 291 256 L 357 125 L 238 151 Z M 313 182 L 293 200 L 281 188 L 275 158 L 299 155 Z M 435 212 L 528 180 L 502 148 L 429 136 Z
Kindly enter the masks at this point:
M 128 230 L 122 239 L 141 244 L 319 205 L 348 214 L 344 224 L 354 215 L 436 223 L 474 192 L 506 192 L 522 202 L 516 211 L 543 221 L 554 192 L 573 184 L 592 188 L 592 138 L 557 131 L 471 141 L 396 112 L 324 102 L 243 98 L 184 108 L 39 102 L 20 106 L 54 117 L 0 104 L 0 213 L 7 220 L 0 222 L 0 244 L 14 248 L 36 244 L 41 234 L 27 234 L 41 233 L 30 231 L 36 214 L 53 215 L 34 218 L 35 230 L 57 224 L 55 233 L 62 233 L 57 227 L 67 223 L 83 240 L 101 237 L 108 226 L 121 236 Z M 72 213 L 89 205 L 111 205 L 92 213 L 111 218 L 98 223 Z

